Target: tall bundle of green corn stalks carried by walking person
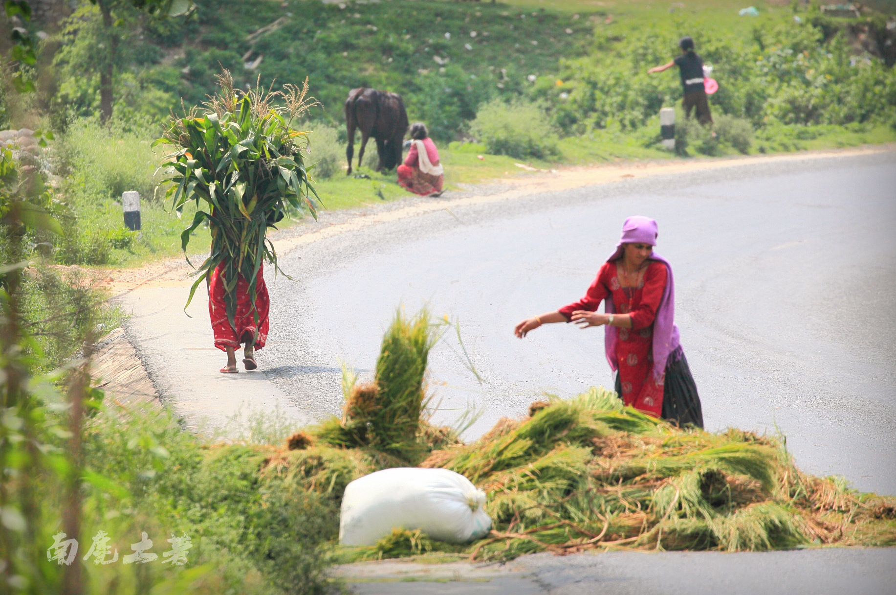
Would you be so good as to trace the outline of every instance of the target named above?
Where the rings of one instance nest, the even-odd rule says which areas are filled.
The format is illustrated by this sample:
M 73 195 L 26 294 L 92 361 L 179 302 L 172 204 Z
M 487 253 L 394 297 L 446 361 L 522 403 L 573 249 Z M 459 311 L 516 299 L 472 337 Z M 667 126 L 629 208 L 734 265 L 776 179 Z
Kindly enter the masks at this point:
M 301 89 L 287 84 L 285 92 L 256 87 L 241 93 L 224 70 L 218 83 L 220 92 L 204 104 L 204 110 L 193 108 L 183 118 L 172 116 L 155 144 L 177 147 L 163 162 L 166 200 L 178 216 L 187 201 L 196 203 L 193 223 L 181 234 L 184 253 L 190 234 L 203 221 L 211 230 L 211 252 L 197 271 L 187 305 L 202 280 L 224 263 L 225 302 L 232 325 L 238 275 L 249 284 L 254 308 L 262 262 L 277 267 L 277 253 L 265 241 L 267 228 L 303 209 L 317 216 L 311 196 L 320 199 L 308 182 L 302 156 L 307 136 L 291 127 L 316 102 L 306 99 L 307 80 Z

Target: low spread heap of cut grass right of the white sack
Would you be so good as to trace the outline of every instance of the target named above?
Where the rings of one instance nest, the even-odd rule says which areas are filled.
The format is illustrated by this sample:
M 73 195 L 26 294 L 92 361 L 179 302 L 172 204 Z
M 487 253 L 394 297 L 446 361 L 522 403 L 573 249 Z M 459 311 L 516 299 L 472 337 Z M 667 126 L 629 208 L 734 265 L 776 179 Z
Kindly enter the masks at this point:
M 896 543 L 896 499 L 802 474 L 777 438 L 680 429 L 604 389 L 552 398 L 421 466 L 452 469 L 486 490 L 495 529 L 470 547 L 474 559 Z

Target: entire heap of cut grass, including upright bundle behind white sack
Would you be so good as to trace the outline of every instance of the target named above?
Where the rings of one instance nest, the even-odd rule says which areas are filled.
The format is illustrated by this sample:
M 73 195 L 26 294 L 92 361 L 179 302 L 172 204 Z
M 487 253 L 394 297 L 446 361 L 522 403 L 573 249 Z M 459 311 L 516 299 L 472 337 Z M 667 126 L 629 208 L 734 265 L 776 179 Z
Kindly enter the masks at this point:
M 375 380 L 345 375 L 332 417 L 266 460 L 263 474 L 322 494 L 338 507 L 368 473 L 419 462 L 449 468 L 487 493 L 492 531 L 465 547 L 396 530 L 347 561 L 430 552 L 504 560 L 587 549 L 762 551 L 896 545 L 896 498 L 860 494 L 794 465 L 784 440 L 730 429 L 678 428 L 624 407 L 599 388 L 551 397 L 521 419 L 502 418 L 478 441 L 426 417 L 426 312 L 401 312 L 383 338 Z M 435 449 L 435 450 L 434 450 Z

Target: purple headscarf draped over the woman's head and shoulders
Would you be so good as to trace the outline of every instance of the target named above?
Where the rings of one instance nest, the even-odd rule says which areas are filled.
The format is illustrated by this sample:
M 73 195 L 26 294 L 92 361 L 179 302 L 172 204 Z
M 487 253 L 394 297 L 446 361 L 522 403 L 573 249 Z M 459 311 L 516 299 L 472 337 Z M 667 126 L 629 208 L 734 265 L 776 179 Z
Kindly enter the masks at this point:
M 657 222 L 650 217 L 642 215 L 634 215 L 625 220 L 622 226 L 622 238 L 616 244 L 616 250 L 607 258 L 607 262 L 620 258 L 623 254 L 623 244 L 650 244 L 657 245 L 657 236 L 659 235 Z M 656 318 L 653 321 L 653 377 L 657 380 L 663 377 L 666 372 L 666 362 L 669 354 L 676 350 L 678 346 L 678 327 L 675 324 L 675 284 L 672 281 L 672 267 L 666 261 L 654 252 L 649 257 L 651 260 L 658 260 L 666 265 L 668 276 L 666 278 L 666 289 L 663 290 L 663 298 L 659 302 Z M 607 295 L 604 301 L 604 311 L 611 314 L 616 311 L 613 305 L 613 296 Z M 619 329 L 607 325 L 604 334 L 604 346 L 607 350 L 607 362 L 613 372 L 619 369 L 619 363 L 616 361 L 616 342 L 619 340 Z

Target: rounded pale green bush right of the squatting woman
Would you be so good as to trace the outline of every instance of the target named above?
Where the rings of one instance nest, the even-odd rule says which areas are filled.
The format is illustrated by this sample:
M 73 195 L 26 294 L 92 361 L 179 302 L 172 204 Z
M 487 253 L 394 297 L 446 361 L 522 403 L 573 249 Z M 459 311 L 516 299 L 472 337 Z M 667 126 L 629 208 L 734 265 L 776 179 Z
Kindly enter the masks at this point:
M 470 133 L 493 155 L 544 159 L 559 153 L 550 120 L 533 103 L 490 101 L 479 109 Z

